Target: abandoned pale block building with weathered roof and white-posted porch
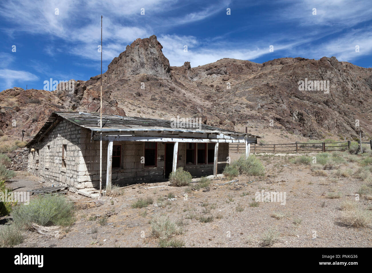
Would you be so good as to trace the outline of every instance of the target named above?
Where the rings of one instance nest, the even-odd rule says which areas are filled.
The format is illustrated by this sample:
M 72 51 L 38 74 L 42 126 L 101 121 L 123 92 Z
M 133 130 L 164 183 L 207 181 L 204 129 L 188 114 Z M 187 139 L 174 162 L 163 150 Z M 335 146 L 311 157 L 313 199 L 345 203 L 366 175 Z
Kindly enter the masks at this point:
M 93 113 L 54 112 L 27 144 L 28 172 L 70 191 L 102 185 L 165 181 L 178 167 L 192 176 L 217 175 L 229 143 L 257 143 L 257 136 L 196 123 Z

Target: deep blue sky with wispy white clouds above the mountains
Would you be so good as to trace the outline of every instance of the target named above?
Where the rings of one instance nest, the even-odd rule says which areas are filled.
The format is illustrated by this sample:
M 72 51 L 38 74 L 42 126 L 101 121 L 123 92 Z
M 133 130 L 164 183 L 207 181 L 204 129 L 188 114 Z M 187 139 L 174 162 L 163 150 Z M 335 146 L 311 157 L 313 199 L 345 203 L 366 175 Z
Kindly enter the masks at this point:
M 371 0 L 3 0 L 0 90 L 26 84 L 43 89 L 50 78 L 88 80 L 100 74 L 101 15 L 103 72 L 126 45 L 153 34 L 172 66 L 221 58 L 261 63 L 336 56 L 372 67 Z

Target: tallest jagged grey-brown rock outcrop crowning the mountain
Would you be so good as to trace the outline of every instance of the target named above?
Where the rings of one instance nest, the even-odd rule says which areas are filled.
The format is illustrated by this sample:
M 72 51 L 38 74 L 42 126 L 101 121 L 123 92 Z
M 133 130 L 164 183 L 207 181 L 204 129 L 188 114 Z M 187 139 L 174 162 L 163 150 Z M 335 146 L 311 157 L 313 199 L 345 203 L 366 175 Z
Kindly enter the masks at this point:
M 138 74 L 170 79 L 169 60 L 161 51 L 162 48 L 155 35 L 136 39 L 109 64 L 105 73 L 108 82 Z

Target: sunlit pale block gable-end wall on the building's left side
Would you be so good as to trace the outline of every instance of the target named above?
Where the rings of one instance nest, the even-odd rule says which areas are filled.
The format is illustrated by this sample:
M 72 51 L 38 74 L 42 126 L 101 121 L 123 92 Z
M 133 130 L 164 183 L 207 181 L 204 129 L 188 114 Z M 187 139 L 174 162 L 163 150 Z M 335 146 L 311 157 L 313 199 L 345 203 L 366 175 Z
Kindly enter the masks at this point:
M 66 145 L 66 168 L 62 168 L 62 145 Z M 49 146 L 49 148 L 48 148 Z M 80 127 L 62 120 L 34 145 L 28 153 L 28 172 L 55 185 L 67 185 L 70 191 L 84 188 L 78 182 L 78 166 L 81 157 Z

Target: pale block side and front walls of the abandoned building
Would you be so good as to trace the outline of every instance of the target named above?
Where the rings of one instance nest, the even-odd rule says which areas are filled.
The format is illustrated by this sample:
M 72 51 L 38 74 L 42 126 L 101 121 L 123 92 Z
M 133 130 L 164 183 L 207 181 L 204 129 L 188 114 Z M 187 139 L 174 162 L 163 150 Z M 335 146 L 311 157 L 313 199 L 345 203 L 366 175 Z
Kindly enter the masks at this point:
M 28 153 L 28 171 L 54 183 L 68 185 L 70 191 L 99 187 L 100 142 L 90 141 L 90 130 L 66 120 L 58 123 L 41 142 L 35 144 L 35 152 Z M 62 144 L 67 145 L 66 168 L 62 168 Z M 144 142 L 114 142 L 122 145 L 121 167 L 112 169 L 112 183 L 163 181 L 165 143 L 157 143 L 157 166 L 144 167 Z M 49 149 L 48 149 L 49 146 Z M 106 185 L 108 141 L 102 142 L 102 186 Z M 226 161 L 228 143 L 219 143 L 218 161 Z M 218 165 L 222 172 L 226 164 Z M 186 143 L 179 143 L 177 167 L 182 166 L 193 176 L 213 174 L 213 164 L 186 166 Z

